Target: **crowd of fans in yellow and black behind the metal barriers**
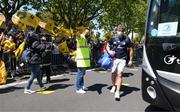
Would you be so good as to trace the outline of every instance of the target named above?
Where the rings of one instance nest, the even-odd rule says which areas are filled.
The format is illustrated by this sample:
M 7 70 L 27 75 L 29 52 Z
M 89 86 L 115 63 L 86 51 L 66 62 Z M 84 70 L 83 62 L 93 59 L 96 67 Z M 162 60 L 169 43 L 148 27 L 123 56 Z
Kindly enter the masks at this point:
M 31 59 L 28 59 L 28 51 L 34 47 L 33 42 L 37 41 L 36 44 L 44 44 L 46 48 L 38 50 L 36 52 L 31 51 Z M 66 49 L 68 53 L 61 52 L 59 44 L 66 42 Z M 21 54 L 17 54 L 16 51 L 24 43 L 24 47 L 21 50 Z M 97 61 L 100 58 L 103 47 L 106 42 L 97 40 L 89 40 L 89 46 L 91 48 L 91 62 L 93 66 L 98 66 Z M 53 37 L 50 33 L 42 32 L 40 28 L 34 30 L 28 28 L 26 31 L 21 31 L 16 26 L 11 28 L 0 29 L 0 58 L 5 63 L 7 76 L 13 78 L 18 74 L 29 72 L 28 64 L 38 63 L 41 66 L 41 73 L 47 74 L 47 82 L 50 82 L 50 75 L 54 72 L 53 68 L 56 66 L 62 66 L 66 64 L 66 67 L 75 67 L 75 52 L 76 51 L 76 37 L 68 38 L 63 35 L 60 37 Z M 39 55 L 39 57 L 38 57 Z M 26 61 L 29 62 L 26 62 Z M 53 66 L 54 65 L 54 66 Z

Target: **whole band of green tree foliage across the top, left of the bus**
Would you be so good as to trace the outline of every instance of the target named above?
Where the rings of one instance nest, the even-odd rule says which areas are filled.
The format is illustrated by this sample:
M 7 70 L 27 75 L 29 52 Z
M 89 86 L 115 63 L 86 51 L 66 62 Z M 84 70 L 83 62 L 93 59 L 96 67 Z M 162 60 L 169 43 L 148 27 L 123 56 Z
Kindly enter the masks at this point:
M 34 8 L 41 19 L 53 19 L 66 28 L 94 28 L 92 21 L 96 20 L 98 29 L 112 32 L 119 23 L 124 23 L 127 34 L 135 31 L 142 37 L 147 0 L 0 0 L 0 13 L 7 21 L 21 7 Z

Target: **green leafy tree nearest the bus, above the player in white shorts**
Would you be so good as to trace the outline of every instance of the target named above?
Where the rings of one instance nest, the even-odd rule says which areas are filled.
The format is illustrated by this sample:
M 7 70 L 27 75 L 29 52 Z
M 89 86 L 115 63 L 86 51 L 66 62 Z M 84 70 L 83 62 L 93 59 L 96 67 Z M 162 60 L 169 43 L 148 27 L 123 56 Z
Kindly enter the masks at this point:
M 144 32 L 146 21 L 146 0 L 111 0 L 109 8 L 98 18 L 100 26 L 106 31 L 112 31 L 119 24 L 127 27 L 126 33 Z

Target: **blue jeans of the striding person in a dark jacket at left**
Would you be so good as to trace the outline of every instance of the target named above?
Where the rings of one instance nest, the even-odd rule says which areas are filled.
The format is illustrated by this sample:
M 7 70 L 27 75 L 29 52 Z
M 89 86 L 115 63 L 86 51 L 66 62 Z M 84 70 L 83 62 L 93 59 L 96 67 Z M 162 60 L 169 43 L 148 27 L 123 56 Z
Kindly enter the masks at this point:
M 31 89 L 31 85 L 33 83 L 33 80 L 35 78 L 37 78 L 37 81 L 39 83 L 39 86 L 40 87 L 44 87 L 44 84 L 42 83 L 42 80 L 41 80 L 41 71 L 40 71 L 40 65 L 39 64 L 36 64 L 36 65 L 29 65 L 30 67 L 30 70 L 31 70 L 31 76 L 28 80 L 28 84 L 27 84 L 27 87 L 26 89 Z

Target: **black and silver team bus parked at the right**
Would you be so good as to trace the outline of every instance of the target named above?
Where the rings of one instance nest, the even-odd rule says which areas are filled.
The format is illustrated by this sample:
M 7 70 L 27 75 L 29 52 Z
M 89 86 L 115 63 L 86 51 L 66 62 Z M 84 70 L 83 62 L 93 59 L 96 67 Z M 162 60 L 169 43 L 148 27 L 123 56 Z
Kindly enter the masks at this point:
M 150 0 L 142 64 L 142 97 L 180 111 L 180 0 Z

